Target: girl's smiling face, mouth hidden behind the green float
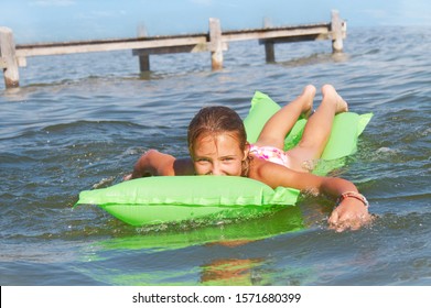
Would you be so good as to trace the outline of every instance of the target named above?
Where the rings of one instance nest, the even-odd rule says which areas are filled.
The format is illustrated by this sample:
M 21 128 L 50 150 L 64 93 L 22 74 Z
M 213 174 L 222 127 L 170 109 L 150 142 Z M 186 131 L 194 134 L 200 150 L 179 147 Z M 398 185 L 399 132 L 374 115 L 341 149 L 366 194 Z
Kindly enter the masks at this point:
M 191 154 L 198 175 L 240 176 L 247 152 L 230 134 L 207 134 L 195 140 Z

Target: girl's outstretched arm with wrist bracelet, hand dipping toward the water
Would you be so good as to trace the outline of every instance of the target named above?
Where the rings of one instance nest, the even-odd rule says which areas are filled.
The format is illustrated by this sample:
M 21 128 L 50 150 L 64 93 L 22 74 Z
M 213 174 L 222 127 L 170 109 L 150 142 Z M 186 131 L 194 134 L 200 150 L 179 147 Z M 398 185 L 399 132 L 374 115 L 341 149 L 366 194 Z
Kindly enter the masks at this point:
M 338 198 L 345 193 L 358 194 L 356 186 L 343 178 L 322 177 L 309 173 L 299 173 L 268 162 L 257 162 L 250 177 L 276 188 L 292 187 L 313 195 L 324 194 Z M 357 198 L 346 197 L 336 206 L 328 219 L 330 228 L 337 231 L 356 230 L 371 219 L 368 207 Z

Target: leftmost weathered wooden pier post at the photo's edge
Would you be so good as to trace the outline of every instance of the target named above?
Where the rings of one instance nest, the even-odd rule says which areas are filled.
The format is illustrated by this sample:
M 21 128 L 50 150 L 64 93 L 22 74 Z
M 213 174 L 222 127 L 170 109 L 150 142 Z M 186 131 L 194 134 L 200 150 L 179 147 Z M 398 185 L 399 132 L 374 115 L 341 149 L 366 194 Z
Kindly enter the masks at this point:
M 0 26 L 0 64 L 3 69 L 6 88 L 20 86 L 20 75 L 12 30 Z

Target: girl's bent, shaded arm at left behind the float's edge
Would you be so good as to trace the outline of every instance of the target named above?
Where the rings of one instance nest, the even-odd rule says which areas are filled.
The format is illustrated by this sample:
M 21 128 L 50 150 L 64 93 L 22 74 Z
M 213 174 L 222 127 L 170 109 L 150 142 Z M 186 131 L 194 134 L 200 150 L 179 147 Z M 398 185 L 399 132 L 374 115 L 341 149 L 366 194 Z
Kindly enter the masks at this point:
M 190 158 L 175 158 L 172 155 L 149 150 L 134 164 L 133 173 L 125 179 L 143 176 L 173 176 L 194 174 L 193 163 Z

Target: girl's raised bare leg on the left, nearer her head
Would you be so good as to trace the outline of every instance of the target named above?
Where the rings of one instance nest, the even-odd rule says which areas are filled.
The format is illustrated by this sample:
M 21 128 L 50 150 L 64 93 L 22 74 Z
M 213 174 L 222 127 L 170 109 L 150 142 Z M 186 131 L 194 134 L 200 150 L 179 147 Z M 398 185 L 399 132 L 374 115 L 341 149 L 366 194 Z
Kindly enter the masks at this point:
M 281 108 L 268 120 L 260 132 L 256 145 L 274 146 L 283 150 L 285 135 L 293 128 L 298 118 L 301 114 L 308 116 L 311 112 L 314 96 L 315 87 L 312 85 L 306 86 L 298 98 Z

